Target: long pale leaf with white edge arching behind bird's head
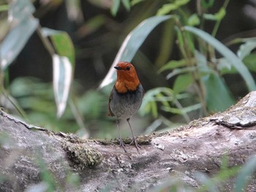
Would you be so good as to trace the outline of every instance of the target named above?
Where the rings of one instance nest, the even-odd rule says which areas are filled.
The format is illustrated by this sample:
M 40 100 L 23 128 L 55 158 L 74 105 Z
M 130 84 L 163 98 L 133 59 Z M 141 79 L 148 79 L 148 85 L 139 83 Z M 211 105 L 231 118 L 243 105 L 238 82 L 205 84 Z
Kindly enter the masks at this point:
M 103 88 L 106 85 L 109 85 L 113 82 L 115 69 L 113 68 L 118 64 L 119 61 L 132 61 L 135 53 L 138 51 L 140 45 L 144 42 L 148 34 L 161 22 L 168 20 L 170 18 L 174 18 L 173 15 L 165 15 L 165 16 L 154 16 L 143 20 L 139 26 L 133 29 L 127 37 L 124 39 L 124 42 L 121 45 L 121 48 L 118 50 L 115 60 L 113 61 L 108 74 L 105 76 L 102 83 L 99 85 L 99 88 Z

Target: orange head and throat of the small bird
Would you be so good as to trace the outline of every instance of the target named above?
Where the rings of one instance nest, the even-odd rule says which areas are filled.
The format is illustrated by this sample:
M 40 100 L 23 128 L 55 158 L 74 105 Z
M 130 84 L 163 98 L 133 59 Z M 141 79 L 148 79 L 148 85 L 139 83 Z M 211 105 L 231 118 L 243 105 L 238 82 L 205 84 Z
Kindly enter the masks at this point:
M 140 85 L 135 67 L 129 62 L 121 61 L 114 66 L 117 72 L 116 90 L 118 93 L 127 93 L 127 91 L 135 91 Z

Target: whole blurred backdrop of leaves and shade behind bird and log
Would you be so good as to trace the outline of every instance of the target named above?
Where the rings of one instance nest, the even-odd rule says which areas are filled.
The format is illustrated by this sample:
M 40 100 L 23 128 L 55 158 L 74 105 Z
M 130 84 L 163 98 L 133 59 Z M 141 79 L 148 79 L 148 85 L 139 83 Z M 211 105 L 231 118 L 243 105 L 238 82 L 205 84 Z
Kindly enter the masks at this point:
M 136 134 L 223 111 L 255 90 L 254 12 L 254 1 L 1 0 L 1 107 L 53 131 L 115 138 L 111 64 L 126 60 L 147 91 Z

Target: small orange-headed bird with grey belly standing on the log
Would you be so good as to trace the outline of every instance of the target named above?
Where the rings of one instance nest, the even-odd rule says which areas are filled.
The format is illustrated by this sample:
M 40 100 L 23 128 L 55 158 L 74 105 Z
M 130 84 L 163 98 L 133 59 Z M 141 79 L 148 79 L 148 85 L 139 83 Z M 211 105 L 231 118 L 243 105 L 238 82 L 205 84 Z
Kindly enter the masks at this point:
M 136 141 L 129 120 L 132 118 L 132 115 L 135 115 L 135 113 L 138 112 L 145 91 L 138 79 L 135 66 L 131 63 L 120 61 L 114 68 L 116 69 L 117 78 L 108 101 L 108 116 L 116 116 L 116 126 L 118 128 L 120 146 L 123 147 L 124 152 L 126 153 L 127 150 L 125 150 L 124 142 L 121 139 L 119 123 L 120 120 L 127 120 L 132 132 L 131 144 L 134 143 L 139 152 L 140 145 L 138 145 L 138 142 Z

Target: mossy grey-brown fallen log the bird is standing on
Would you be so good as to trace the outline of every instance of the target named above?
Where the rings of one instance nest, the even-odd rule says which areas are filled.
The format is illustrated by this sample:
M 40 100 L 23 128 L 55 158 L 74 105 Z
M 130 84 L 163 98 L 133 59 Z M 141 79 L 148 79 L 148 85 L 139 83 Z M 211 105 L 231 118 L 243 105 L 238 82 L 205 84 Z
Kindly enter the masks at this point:
M 197 188 L 196 172 L 216 174 L 224 156 L 229 156 L 229 166 L 235 166 L 255 154 L 255 109 L 256 91 L 223 113 L 140 137 L 140 153 L 132 145 L 124 153 L 116 141 L 54 133 L 1 111 L 0 191 L 43 190 L 42 180 L 49 177 L 57 191 L 148 191 L 177 179 Z M 78 187 L 69 183 L 70 175 L 79 176 Z M 224 188 L 233 191 L 233 180 Z M 247 190 L 255 188 L 252 180 Z

